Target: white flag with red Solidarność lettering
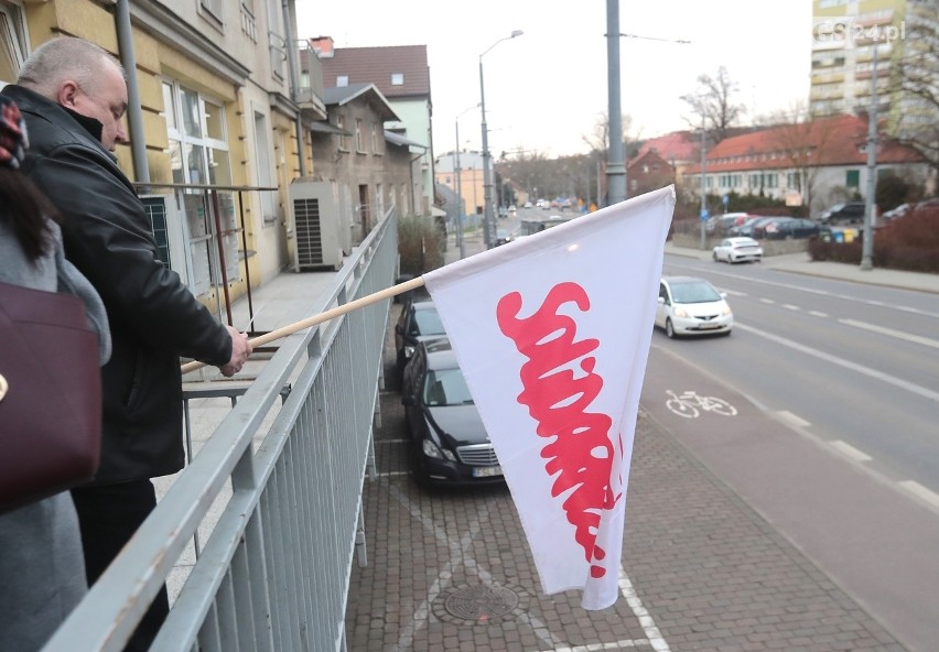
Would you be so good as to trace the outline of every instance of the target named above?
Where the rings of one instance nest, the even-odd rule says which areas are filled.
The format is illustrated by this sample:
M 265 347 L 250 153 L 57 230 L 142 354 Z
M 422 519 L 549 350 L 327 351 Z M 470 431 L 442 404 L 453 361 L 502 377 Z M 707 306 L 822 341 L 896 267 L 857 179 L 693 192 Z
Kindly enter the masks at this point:
M 618 596 L 669 186 L 424 274 L 544 593 Z

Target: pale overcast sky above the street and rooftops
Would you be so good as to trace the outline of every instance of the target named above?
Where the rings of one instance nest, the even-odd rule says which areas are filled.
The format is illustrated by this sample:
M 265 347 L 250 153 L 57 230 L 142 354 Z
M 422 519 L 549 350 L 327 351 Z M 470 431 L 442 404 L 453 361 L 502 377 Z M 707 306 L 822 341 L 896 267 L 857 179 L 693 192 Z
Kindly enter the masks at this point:
M 687 129 L 699 75 L 725 66 L 747 107 L 745 121 L 805 105 L 811 61 L 811 0 L 619 0 L 622 112 L 629 134 Z M 300 37 L 336 47 L 427 45 L 434 152 L 482 143 L 483 57 L 489 149 L 549 156 L 585 152 L 608 108 L 606 0 L 296 0 Z M 663 40 L 684 40 L 679 44 Z M 466 142 L 468 141 L 468 142 Z

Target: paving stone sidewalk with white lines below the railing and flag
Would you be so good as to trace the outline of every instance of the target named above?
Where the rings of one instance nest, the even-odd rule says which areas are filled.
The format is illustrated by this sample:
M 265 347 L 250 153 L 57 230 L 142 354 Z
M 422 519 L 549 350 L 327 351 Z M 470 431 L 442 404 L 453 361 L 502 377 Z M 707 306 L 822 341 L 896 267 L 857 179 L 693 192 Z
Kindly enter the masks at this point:
M 392 366 L 393 344 L 389 379 Z M 623 597 L 604 611 L 581 609 L 580 591 L 542 595 L 507 489 L 411 480 L 397 388 L 382 392 L 381 417 L 379 477 L 364 498 L 368 565 L 353 570 L 346 613 L 352 651 L 904 650 L 641 412 Z

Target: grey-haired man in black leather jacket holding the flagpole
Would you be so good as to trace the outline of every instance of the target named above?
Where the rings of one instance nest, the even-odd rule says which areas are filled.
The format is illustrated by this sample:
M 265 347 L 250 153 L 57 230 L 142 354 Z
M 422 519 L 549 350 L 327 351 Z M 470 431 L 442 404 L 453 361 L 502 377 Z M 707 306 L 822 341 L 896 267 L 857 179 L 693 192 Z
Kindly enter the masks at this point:
M 57 36 L 0 91 L 20 106 L 30 130 L 23 173 L 64 216 L 66 258 L 95 286 L 110 323 L 101 464 L 91 482 L 72 490 L 89 584 L 155 508 L 151 478 L 183 468 L 180 358 L 233 376 L 251 354 L 247 336 L 220 324 L 160 260 L 153 226 L 114 154 L 128 141 L 125 74 L 98 45 Z M 166 613 L 163 590 L 127 649 L 149 649 Z

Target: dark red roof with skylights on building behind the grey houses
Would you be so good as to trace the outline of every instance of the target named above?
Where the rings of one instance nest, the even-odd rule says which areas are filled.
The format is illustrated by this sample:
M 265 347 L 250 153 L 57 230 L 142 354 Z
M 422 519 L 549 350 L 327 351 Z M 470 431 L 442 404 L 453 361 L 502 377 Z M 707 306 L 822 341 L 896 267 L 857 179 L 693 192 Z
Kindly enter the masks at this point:
M 375 84 L 388 99 L 430 97 L 430 67 L 427 45 L 381 47 L 337 47 L 321 59 L 323 85 L 336 86 L 336 77 L 347 75 L 352 84 Z M 402 74 L 401 85 L 391 84 L 392 74 Z

